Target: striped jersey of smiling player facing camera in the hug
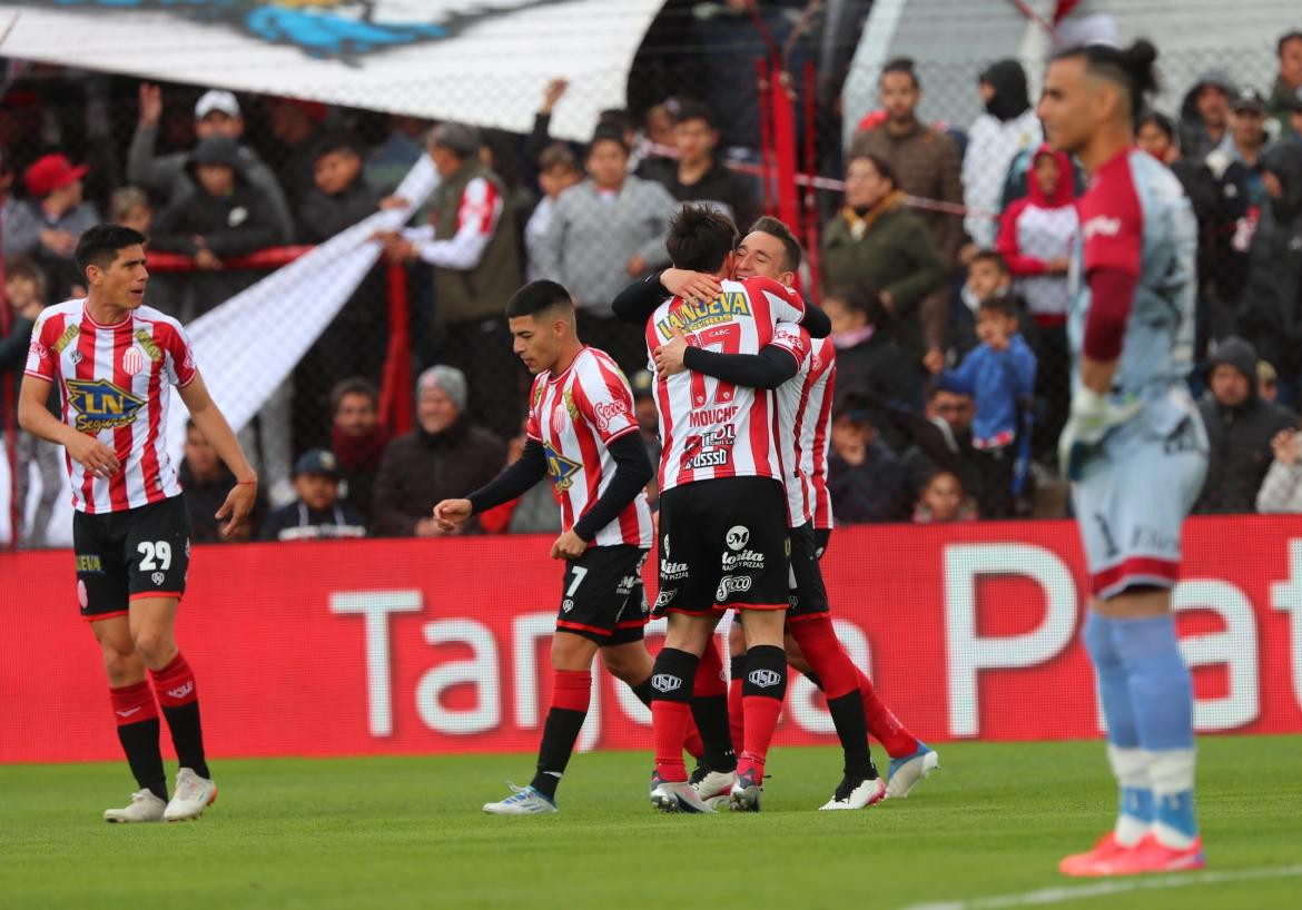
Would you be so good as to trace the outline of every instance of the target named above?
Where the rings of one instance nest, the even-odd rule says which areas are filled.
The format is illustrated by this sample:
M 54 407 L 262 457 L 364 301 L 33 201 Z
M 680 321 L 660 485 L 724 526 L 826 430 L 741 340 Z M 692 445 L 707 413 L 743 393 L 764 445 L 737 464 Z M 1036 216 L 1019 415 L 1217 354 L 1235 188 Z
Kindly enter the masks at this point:
M 811 338 L 802 327 L 788 324 L 777 327 L 773 345 L 799 363 L 796 375 L 777 387 L 777 439 L 788 519 L 792 527 L 814 522 L 814 527 L 831 529 L 827 450 L 832 437 L 836 348 L 828 338 Z

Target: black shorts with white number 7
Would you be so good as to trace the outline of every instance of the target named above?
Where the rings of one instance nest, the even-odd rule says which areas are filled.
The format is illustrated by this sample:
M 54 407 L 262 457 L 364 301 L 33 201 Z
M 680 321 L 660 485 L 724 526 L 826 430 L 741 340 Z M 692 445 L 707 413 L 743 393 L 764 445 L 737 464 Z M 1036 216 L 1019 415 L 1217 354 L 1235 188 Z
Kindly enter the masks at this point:
M 646 558 L 641 547 L 621 544 L 590 547 L 577 560 L 566 560 L 556 630 L 602 646 L 641 642 L 650 618 L 642 587 Z

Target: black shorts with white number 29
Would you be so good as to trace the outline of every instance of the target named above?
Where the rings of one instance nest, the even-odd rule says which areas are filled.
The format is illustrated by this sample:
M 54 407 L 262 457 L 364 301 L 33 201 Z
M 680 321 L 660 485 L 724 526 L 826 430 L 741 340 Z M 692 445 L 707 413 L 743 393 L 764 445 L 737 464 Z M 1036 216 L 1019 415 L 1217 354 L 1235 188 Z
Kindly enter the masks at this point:
M 128 612 L 141 598 L 180 598 L 190 568 L 190 510 L 182 496 L 126 512 L 73 513 L 77 603 L 87 620 Z

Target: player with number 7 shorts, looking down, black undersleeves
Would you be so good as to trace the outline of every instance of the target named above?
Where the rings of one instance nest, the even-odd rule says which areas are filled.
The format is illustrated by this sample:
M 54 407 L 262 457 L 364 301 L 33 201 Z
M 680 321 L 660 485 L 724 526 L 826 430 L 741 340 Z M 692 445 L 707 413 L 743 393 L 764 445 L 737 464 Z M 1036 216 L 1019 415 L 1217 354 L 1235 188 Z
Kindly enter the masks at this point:
M 642 564 L 654 535 L 646 497 L 651 462 L 633 389 L 609 355 L 579 341 L 569 292 L 555 281 L 531 281 L 510 298 L 506 316 L 516 354 L 536 376 L 525 450 L 466 499 L 435 505 L 434 517 L 450 531 L 544 475 L 561 504 L 562 531 L 551 555 L 565 560 L 565 575 L 538 772 L 529 786 L 512 786 L 505 799 L 484 806 L 493 815 L 529 815 L 556 811 L 556 788 L 587 717 L 598 651 L 613 676 L 651 702 L 651 656 L 642 641 Z

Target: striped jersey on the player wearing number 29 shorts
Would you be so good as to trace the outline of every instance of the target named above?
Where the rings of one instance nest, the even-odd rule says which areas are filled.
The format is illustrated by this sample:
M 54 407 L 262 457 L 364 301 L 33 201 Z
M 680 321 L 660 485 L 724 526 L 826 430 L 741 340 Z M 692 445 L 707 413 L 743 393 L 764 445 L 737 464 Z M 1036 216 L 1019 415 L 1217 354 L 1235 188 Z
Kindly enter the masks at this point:
M 122 469 L 96 478 L 66 452 L 73 508 L 124 512 L 181 493 L 163 427 L 171 393 L 198 375 L 181 323 L 142 306 L 116 325 L 100 325 L 86 301 L 51 306 L 31 329 L 26 374 L 59 385 L 64 422 L 113 449 Z

